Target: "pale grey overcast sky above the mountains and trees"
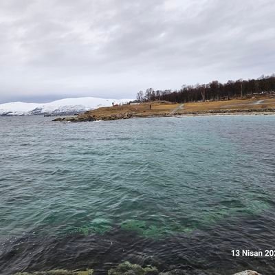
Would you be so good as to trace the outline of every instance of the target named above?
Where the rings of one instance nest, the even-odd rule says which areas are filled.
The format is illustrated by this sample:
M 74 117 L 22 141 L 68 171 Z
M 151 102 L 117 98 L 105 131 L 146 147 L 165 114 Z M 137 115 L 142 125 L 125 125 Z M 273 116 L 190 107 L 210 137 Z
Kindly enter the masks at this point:
M 275 72 L 274 0 L 1 0 L 0 103 Z

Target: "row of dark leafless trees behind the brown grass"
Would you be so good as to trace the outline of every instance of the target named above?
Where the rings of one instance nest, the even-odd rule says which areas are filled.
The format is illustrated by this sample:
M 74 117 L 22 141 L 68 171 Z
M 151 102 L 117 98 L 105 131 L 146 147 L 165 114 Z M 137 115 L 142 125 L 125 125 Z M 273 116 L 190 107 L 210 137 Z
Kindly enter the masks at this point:
M 250 80 L 228 80 L 227 83 L 212 81 L 208 84 L 183 85 L 179 90 L 146 89 L 137 93 L 137 101 L 167 100 L 170 102 L 196 102 L 206 100 L 230 100 L 231 98 L 248 98 L 253 94 L 274 93 L 275 74 L 261 76 Z

